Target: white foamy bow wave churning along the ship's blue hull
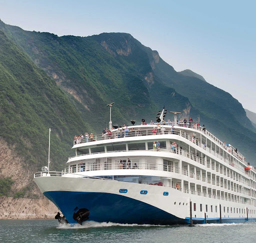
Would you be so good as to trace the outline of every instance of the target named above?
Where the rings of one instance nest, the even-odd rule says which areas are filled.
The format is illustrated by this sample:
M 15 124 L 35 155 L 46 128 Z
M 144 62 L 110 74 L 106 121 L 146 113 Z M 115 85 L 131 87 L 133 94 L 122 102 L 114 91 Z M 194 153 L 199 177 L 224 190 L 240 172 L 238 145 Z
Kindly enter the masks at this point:
M 166 227 L 162 225 L 137 225 L 137 224 L 118 224 L 118 223 L 111 223 L 111 222 L 95 222 L 95 221 L 86 221 L 82 225 L 79 224 L 63 224 L 59 225 L 57 229 L 87 229 L 87 228 L 100 228 L 100 227 Z

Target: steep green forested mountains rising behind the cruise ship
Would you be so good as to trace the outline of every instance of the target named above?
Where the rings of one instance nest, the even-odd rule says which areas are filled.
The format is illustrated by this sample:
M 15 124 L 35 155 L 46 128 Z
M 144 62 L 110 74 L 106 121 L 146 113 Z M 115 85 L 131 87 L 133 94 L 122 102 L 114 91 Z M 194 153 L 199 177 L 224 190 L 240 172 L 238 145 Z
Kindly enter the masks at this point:
M 163 106 L 181 111 L 254 163 L 256 129 L 241 104 L 191 72 L 176 72 L 130 34 L 58 37 L 2 21 L 0 30 L 0 137 L 34 170 L 47 162 L 49 127 L 59 169 L 74 135 L 107 127 L 110 102 L 118 125 L 154 120 Z

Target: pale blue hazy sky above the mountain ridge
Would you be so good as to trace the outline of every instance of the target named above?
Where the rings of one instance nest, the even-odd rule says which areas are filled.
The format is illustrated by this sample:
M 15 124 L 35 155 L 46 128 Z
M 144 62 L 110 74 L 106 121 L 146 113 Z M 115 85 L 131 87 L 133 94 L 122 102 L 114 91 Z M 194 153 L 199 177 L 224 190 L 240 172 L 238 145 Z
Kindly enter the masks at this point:
M 175 70 L 193 70 L 253 112 L 255 9 L 252 0 L 0 0 L 1 20 L 25 30 L 130 33 Z

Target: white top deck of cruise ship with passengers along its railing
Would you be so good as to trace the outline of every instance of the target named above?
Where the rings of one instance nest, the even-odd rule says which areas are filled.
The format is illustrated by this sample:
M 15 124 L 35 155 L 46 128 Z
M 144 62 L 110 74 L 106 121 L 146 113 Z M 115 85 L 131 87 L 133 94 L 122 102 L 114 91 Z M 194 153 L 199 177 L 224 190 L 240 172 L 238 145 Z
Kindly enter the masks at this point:
M 160 125 L 158 129 L 155 124 L 128 126 L 126 131 L 124 129 L 114 129 L 111 131 L 110 134 L 105 133 L 93 135 L 90 138 L 83 138 L 74 141 L 74 145 L 72 148 L 76 149 L 76 151 L 78 150 L 82 155 L 112 151 L 127 151 L 132 149 L 128 149 L 127 147 L 122 148 L 120 144 L 132 143 L 134 141 L 156 141 L 168 139 L 175 135 L 180 136 L 178 139 L 186 139 L 192 142 L 195 145 L 195 147 L 198 146 L 201 149 L 206 150 L 210 154 L 214 155 L 215 157 L 226 163 L 227 161 L 224 158 L 223 153 L 226 153 L 232 156 L 233 158 L 237 159 L 237 161 L 239 161 L 243 167 L 247 167 L 249 165 L 245 161 L 245 157 L 242 154 L 240 154 L 237 150 L 235 150 L 232 146 L 220 141 L 205 128 L 202 128 L 200 126 L 193 127 L 189 124 L 182 124 L 182 126 Z M 100 151 L 100 146 L 101 148 L 103 148 L 102 146 L 110 146 L 111 149 L 106 149 L 106 151 Z M 114 149 L 114 147 L 116 148 Z M 138 149 L 139 148 L 135 148 L 134 150 Z M 76 154 L 75 157 L 77 156 L 79 155 Z M 251 170 L 256 172 L 254 167 L 251 167 Z

